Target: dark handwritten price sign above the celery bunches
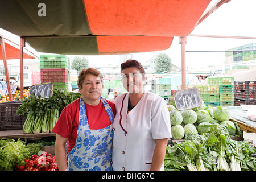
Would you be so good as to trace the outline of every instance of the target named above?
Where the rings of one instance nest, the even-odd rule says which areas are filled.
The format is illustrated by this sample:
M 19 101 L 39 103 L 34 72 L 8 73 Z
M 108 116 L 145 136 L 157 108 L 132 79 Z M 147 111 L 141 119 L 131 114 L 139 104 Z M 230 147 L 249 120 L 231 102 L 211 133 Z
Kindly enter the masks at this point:
M 46 84 L 36 84 L 31 86 L 30 94 L 33 93 L 36 98 L 40 95 L 41 98 L 48 98 L 52 97 L 53 94 L 53 84 L 46 83 Z

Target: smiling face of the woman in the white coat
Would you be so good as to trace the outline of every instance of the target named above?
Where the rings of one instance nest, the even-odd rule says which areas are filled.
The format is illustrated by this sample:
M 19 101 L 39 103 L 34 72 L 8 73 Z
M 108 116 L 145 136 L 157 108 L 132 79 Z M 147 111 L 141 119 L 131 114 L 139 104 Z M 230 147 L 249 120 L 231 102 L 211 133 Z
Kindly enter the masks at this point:
M 141 72 L 135 67 L 123 69 L 122 71 L 123 87 L 129 93 L 143 92 L 143 77 Z

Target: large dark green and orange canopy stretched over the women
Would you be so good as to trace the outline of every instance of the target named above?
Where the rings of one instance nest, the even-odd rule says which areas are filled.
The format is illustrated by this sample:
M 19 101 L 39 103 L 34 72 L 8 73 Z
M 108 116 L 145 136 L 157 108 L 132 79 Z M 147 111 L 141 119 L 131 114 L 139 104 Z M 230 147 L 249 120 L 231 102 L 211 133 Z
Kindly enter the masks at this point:
M 0 28 L 39 52 L 109 55 L 160 51 L 188 35 L 210 0 L 0 1 Z M 42 15 L 42 16 L 41 16 Z

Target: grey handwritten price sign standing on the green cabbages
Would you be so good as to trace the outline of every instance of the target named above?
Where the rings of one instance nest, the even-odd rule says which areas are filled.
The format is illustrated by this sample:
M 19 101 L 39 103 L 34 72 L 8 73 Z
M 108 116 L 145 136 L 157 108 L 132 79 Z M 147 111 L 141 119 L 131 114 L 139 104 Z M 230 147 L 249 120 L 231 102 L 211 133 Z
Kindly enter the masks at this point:
M 177 110 L 192 109 L 202 105 L 199 91 L 195 87 L 174 92 L 174 101 Z

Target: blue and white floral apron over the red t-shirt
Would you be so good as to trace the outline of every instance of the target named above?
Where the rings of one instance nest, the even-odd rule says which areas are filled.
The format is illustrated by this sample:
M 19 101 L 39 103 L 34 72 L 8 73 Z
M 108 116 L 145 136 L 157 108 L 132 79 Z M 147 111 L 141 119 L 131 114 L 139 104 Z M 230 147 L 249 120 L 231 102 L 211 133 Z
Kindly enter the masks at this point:
M 100 98 L 109 115 L 111 125 L 90 130 L 84 100 L 80 99 L 79 126 L 75 146 L 68 152 L 69 171 L 111 171 L 114 114 L 108 102 Z

